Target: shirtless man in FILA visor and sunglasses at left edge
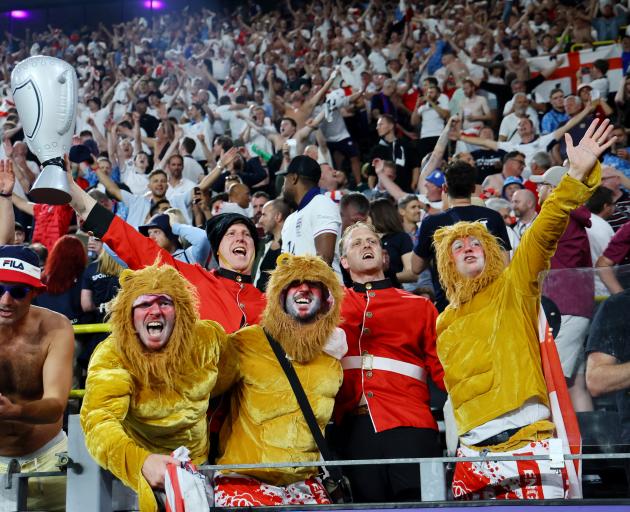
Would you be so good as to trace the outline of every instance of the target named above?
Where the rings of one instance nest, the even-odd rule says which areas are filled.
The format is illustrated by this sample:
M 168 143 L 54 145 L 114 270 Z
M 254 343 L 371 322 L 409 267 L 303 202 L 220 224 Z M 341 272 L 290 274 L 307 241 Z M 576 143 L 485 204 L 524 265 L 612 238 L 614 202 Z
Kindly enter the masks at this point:
M 14 184 L 11 165 L 0 162 L 0 233 L 15 223 L 5 204 L 11 204 Z M 55 453 L 67 449 L 61 425 L 72 385 L 74 334 L 64 316 L 31 306 L 44 288 L 33 251 L 0 246 L 0 474 L 13 459 L 22 473 L 54 471 Z M 32 479 L 29 510 L 64 510 L 65 494 L 61 478 Z M 16 510 L 12 496 L 0 485 L 0 510 Z

